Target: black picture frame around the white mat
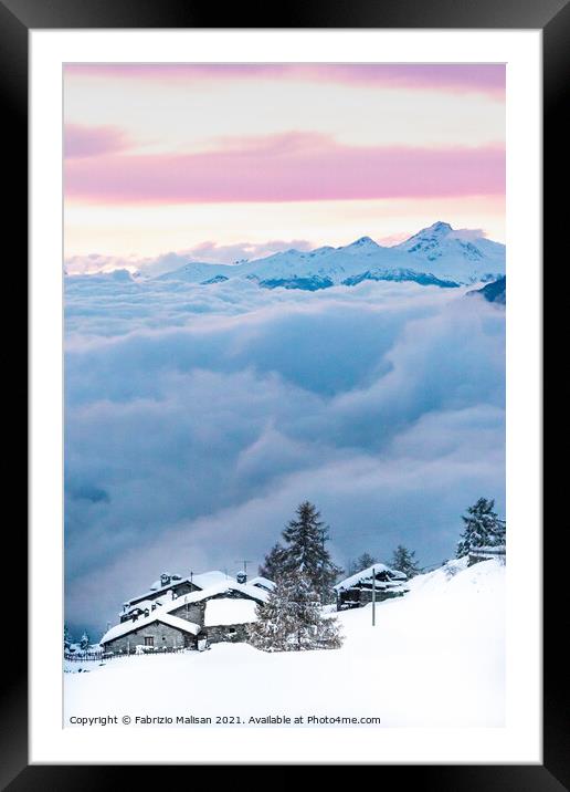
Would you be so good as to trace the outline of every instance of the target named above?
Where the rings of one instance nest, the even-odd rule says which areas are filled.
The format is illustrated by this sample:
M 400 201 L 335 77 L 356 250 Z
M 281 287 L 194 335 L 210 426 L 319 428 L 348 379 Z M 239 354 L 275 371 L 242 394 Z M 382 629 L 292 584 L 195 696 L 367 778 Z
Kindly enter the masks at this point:
M 220 24 L 221 21 L 223 24 Z M 553 268 L 558 265 L 559 272 L 560 268 L 568 265 L 563 237 L 569 210 L 563 196 L 570 173 L 570 128 L 564 117 L 570 79 L 569 0 L 351 0 L 350 3 L 328 0 L 326 4 L 319 0 L 295 0 L 272 7 L 271 11 L 261 2 L 253 2 L 226 7 L 223 12 L 220 7 L 191 0 L 0 0 L 2 132 L 7 142 L 4 157 L 9 153 L 9 159 L 17 165 L 17 176 L 10 181 L 10 231 L 18 240 L 15 247 L 20 260 L 24 256 L 28 238 L 29 31 L 74 28 L 539 29 L 543 40 L 543 261 L 550 260 Z M 556 260 L 557 253 L 559 261 Z M 545 289 L 549 282 L 550 279 L 543 279 Z M 25 289 L 25 283 L 20 288 Z M 557 289 L 555 284 L 545 294 L 545 373 L 559 371 L 563 363 L 560 356 L 563 346 L 559 338 L 564 330 L 562 300 L 567 292 L 568 286 Z M 25 377 L 25 373 L 22 374 Z M 546 460 L 549 447 L 555 448 L 555 438 L 557 448 L 563 440 L 568 400 L 567 393 L 559 383 L 555 384 L 553 376 L 552 379 L 545 378 L 543 397 Z M 560 559 L 569 557 L 568 528 L 566 521 L 559 523 L 555 517 L 564 492 L 564 467 L 563 462 L 552 466 L 548 478 L 543 478 L 543 764 L 389 765 L 382 769 L 383 783 L 391 777 L 393 780 L 389 783 L 418 783 L 422 789 L 437 792 L 559 792 L 570 789 L 568 658 L 559 644 L 561 636 L 570 634 L 568 607 L 564 607 L 564 602 L 568 602 L 564 569 L 560 566 Z M 18 528 L 11 528 L 15 542 L 10 557 L 12 570 L 27 566 L 27 535 L 21 523 L 20 519 Z M 560 530 L 557 530 L 558 527 Z M 4 566 L 8 566 L 7 555 Z M 18 632 L 20 640 L 23 637 L 21 622 Z M 134 768 L 29 765 L 24 658 L 25 655 L 18 650 L 13 661 L 8 663 L 9 671 L 1 677 L 1 788 L 13 792 L 36 789 L 86 791 L 104 785 L 114 789 L 124 781 L 133 782 Z M 334 758 L 330 763 L 334 763 Z M 163 782 L 163 775 L 159 779 L 158 772 L 163 770 L 145 767 L 146 780 Z

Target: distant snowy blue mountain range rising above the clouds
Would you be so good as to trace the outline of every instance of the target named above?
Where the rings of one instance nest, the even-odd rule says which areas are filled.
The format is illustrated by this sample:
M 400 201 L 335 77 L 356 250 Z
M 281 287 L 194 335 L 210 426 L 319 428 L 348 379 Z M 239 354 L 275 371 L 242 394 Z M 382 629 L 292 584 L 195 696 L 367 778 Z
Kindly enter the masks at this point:
M 453 286 L 493 280 L 505 272 L 505 246 L 456 231 L 436 222 L 405 242 L 386 248 L 370 237 L 361 237 L 340 248 L 312 251 L 287 250 L 244 263 L 189 263 L 167 272 L 159 280 L 212 283 L 223 279 L 247 278 L 265 288 L 300 288 L 315 291 L 362 280 L 415 281 L 421 284 Z

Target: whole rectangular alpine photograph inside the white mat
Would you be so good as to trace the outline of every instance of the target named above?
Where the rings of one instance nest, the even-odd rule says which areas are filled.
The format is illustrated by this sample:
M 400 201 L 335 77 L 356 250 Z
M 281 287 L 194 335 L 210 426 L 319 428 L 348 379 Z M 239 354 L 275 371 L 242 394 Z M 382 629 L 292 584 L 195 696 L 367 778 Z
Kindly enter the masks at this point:
M 64 730 L 504 728 L 505 63 L 62 79 Z

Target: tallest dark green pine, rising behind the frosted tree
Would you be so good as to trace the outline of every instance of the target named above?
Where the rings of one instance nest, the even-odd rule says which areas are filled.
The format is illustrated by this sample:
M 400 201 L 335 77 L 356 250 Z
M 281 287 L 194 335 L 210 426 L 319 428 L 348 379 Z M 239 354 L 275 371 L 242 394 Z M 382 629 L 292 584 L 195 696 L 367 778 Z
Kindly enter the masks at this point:
M 305 573 L 318 592 L 320 601 L 327 602 L 340 569 L 332 563 L 325 546 L 328 529 L 313 503 L 305 501 L 297 507 L 296 519 L 289 520 L 283 531 L 283 539 L 287 543 L 286 571 Z

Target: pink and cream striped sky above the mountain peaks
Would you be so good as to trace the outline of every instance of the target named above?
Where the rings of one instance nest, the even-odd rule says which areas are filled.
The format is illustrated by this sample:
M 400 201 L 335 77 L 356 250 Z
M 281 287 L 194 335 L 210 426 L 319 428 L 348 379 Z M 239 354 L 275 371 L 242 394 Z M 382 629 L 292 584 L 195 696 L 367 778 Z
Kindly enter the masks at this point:
M 64 91 L 67 258 L 504 240 L 503 65 L 74 64 Z

